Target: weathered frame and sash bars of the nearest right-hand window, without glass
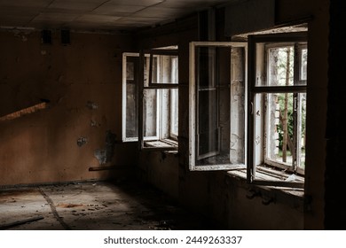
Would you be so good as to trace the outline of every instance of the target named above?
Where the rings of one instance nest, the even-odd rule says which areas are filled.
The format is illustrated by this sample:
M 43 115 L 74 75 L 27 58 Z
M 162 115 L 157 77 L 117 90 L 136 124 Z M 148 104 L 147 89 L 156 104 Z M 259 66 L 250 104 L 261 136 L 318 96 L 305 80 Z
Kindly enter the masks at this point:
M 268 44 L 281 44 L 285 46 L 287 43 L 307 43 L 307 33 L 285 33 L 285 34 L 275 34 L 275 35 L 250 35 L 248 37 L 248 53 L 249 53 L 249 64 L 248 64 L 248 169 L 247 169 L 247 179 L 248 183 L 257 185 L 267 185 L 267 186 L 279 186 L 279 187 L 293 187 L 293 188 L 303 188 L 304 179 L 303 172 L 300 175 L 295 174 L 298 172 L 296 170 L 294 174 L 287 173 L 287 168 L 280 169 L 268 169 L 262 168 L 267 163 L 265 155 L 265 128 L 264 119 L 266 116 L 266 111 L 263 100 L 260 100 L 257 96 L 267 95 L 271 93 L 306 93 L 307 91 L 307 81 L 301 81 L 298 76 L 298 71 L 300 66 L 294 65 L 294 85 L 290 86 L 266 86 L 260 85 L 256 86 L 256 81 L 263 80 L 267 81 L 268 75 L 261 78 L 259 74 L 256 74 L 256 62 L 258 59 L 263 59 L 266 56 L 264 53 L 263 58 L 257 58 L 256 54 L 256 44 L 257 43 L 268 43 Z M 304 45 L 303 47 L 306 47 Z M 261 57 L 261 56 L 258 56 Z M 295 61 L 297 63 L 298 61 Z M 264 64 L 266 74 L 268 74 L 268 65 Z M 279 164 L 279 163 L 276 163 Z M 273 164 L 268 165 L 273 166 Z M 280 167 L 279 165 L 274 165 L 274 167 Z M 256 171 L 264 171 L 268 174 L 277 175 L 277 179 L 273 177 L 256 176 Z M 299 173 L 299 172 L 298 172 Z

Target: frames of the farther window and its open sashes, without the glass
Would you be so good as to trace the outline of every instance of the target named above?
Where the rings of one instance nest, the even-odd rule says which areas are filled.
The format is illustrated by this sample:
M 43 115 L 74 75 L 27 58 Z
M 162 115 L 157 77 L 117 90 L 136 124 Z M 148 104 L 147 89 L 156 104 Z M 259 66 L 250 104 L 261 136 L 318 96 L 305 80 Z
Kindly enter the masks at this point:
M 141 150 L 163 150 L 163 151 L 177 151 L 177 134 L 173 134 L 171 132 L 171 128 L 169 128 L 169 139 L 163 139 L 163 131 L 161 130 L 161 115 L 164 114 L 164 107 L 161 106 L 162 99 L 163 99 L 163 89 L 176 89 L 178 90 L 178 82 L 175 83 L 155 83 L 152 79 L 152 72 L 153 72 L 153 57 L 157 56 L 159 58 L 158 67 L 160 70 L 157 71 L 157 78 L 159 81 L 161 80 L 161 55 L 177 55 L 177 50 L 143 50 L 139 53 L 131 53 L 131 52 L 125 52 L 122 55 L 122 142 L 139 142 L 139 148 Z M 126 136 L 126 114 L 127 114 L 127 57 L 137 57 L 138 63 L 139 63 L 139 70 L 138 70 L 138 89 L 137 89 L 137 101 L 138 101 L 138 136 L 136 137 L 127 137 Z M 149 58 L 149 59 L 147 59 Z M 145 65 L 144 65 L 145 64 Z M 146 68 L 146 69 L 145 69 Z M 178 68 L 176 68 L 178 69 Z M 146 72 L 145 72 L 146 70 Z M 145 74 L 148 77 L 145 79 Z M 177 80 L 178 78 L 176 78 Z M 145 108 L 145 90 L 156 90 L 156 100 L 155 100 L 155 106 L 156 106 L 156 130 L 154 133 L 156 136 L 145 136 L 144 137 L 144 108 Z M 170 94 L 171 92 L 169 92 Z M 178 92 L 177 92 L 178 94 Z M 169 99 L 169 111 L 173 109 L 172 104 L 177 104 L 178 101 L 172 101 L 172 98 Z M 175 120 L 171 120 L 172 118 L 169 118 L 169 124 L 173 125 Z M 139 138 L 138 138 L 139 137 Z M 171 140 L 170 140 L 171 139 Z M 154 142 L 156 141 L 156 143 Z M 152 142 L 155 143 L 154 145 L 145 146 L 145 143 Z M 158 144 L 159 143 L 159 144 Z M 161 144 L 160 144 L 161 143 Z

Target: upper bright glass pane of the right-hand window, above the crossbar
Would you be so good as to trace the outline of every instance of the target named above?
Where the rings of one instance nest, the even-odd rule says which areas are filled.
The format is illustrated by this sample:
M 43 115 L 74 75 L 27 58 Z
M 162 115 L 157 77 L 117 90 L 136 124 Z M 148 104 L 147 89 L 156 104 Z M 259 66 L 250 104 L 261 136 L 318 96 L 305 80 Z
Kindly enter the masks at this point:
M 268 82 L 267 86 L 294 85 L 293 46 L 268 49 Z

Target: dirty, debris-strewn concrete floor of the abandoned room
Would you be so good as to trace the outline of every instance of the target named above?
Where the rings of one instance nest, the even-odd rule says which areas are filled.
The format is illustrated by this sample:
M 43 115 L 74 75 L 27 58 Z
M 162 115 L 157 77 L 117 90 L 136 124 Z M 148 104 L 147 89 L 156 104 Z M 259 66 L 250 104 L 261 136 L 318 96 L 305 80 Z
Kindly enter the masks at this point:
M 153 187 L 74 182 L 0 189 L 0 229 L 212 229 Z

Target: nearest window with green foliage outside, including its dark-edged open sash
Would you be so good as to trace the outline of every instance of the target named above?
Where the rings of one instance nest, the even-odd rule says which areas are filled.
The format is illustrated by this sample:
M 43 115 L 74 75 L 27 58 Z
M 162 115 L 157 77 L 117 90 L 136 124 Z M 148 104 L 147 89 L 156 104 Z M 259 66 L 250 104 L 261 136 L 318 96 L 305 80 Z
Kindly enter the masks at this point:
M 248 37 L 248 182 L 303 188 L 306 37 Z

